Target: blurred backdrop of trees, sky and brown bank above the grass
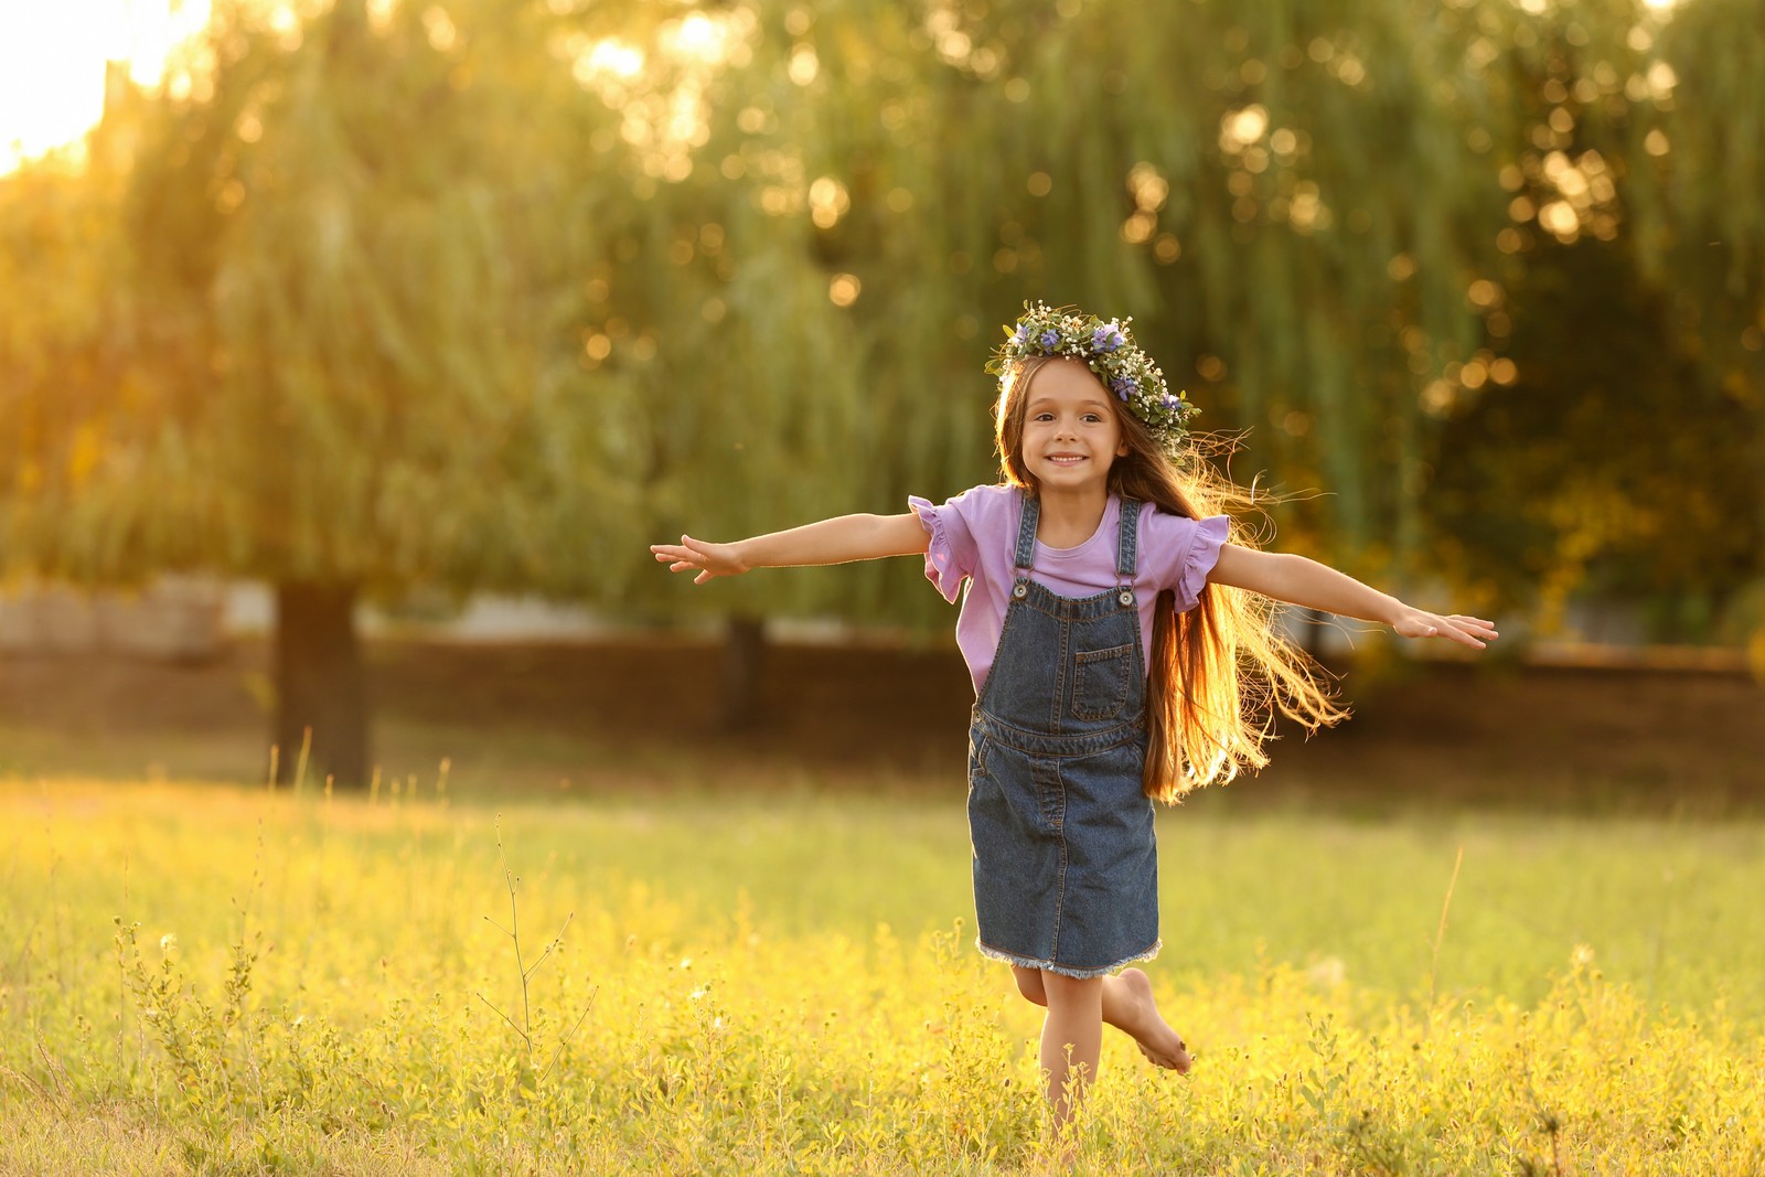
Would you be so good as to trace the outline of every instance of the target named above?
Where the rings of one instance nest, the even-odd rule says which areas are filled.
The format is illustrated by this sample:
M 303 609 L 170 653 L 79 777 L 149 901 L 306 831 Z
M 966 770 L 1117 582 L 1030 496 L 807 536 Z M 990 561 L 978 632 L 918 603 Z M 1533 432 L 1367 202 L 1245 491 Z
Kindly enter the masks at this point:
M 644 545 L 992 480 L 981 365 L 1047 298 L 1133 316 L 1271 544 L 1502 623 L 1470 671 L 1296 619 L 1363 718 L 1294 787 L 1756 794 L 1751 0 L 136 0 L 0 39 L 0 769 L 960 764 L 913 561 L 694 591 Z

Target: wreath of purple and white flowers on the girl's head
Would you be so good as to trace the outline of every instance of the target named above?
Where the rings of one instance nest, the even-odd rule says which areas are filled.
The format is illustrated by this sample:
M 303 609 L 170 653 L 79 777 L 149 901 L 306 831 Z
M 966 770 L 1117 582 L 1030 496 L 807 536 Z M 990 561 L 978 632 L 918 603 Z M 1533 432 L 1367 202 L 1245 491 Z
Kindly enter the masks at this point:
M 1133 413 L 1153 439 L 1167 450 L 1175 450 L 1188 434 L 1186 422 L 1198 409 L 1183 392 L 1165 386 L 1165 374 L 1153 358 L 1140 351 L 1128 334 L 1126 319 L 1103 321 L 1094 314 L 1080 314 L 1073 307 L 1050 307 L 1045 302 L 1025 302 L 1017 326 L 1004 328 L 1006 341 L 999 344 L 987 371 L 1004 376 L 1015 364 L 1033 356 L 1070 356 L 1084 360 L 1098 379 L 1114 392 Z

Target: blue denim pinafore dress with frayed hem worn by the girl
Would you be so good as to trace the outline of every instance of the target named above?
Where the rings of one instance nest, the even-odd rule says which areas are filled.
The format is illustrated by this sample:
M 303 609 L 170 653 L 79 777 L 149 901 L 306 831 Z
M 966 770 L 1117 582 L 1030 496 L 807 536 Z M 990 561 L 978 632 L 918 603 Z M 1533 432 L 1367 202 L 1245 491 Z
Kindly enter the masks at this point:
M 1158 843 L 1140 785 L 1140 503 L 1121 503 L 1115 588 L 1082 598 L 1031 579 L 1041 508 L 1022 503 L 1017 581 L 969 727 L 976 942 L 1013 965 L 1105 976 L 1160 949 Z

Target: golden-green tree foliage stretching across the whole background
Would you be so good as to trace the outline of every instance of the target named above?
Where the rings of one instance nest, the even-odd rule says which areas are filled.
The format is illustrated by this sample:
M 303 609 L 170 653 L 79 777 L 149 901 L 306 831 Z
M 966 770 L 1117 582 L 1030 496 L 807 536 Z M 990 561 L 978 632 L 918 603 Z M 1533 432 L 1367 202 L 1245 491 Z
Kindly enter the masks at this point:
M 1562 341 L 1597 302 L 1562 245 L 1610 244 L 1634 295 L 1576 344 L 1649 341 L 1652 395 L 1707 392 L 1670 462 L 1613 429 L 1520 464 L 1758 466 L 1744 11 L 337 0 L 289 30 L 222 4 L 187 88 L 116 86 L 90 182 L 0 185 L 30 259 L 0 274 L 30 311 L 0 346 L 5 558 L 941 619 L 900 563 L 690 593 L 642 542 L 988 480 L 981 367 L 1048 298 L 1135 316 L 1198 425 L 1250 431 L 1241 480 L 1327 492 L 1285 547 L 1433 575 L 1468 526 L 1437 480 L 1537 485 L 1467 427 L 1484 394 L 1550 401 L 1537 429 L 1626 418 L 1521 346 L 1521 311 Z M 1574 494 L 1622 515 L 1622 482 Z M 1587 574 L 1716 607 L 1758 577 L 1724 531 L 1686 528 L 1671 577 L 1641 545 L 1546 554 L 1562 528 L 1525 510 L 1467 549 L 1550 600 Z

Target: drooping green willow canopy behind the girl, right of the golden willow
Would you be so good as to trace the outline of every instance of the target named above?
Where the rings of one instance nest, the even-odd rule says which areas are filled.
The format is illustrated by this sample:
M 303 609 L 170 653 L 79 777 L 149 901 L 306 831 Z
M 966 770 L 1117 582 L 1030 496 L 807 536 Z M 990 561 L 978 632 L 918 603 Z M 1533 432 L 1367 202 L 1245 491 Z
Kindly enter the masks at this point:
M 1253 427 L 1257 461 L 1322 482 L 1315 542 L 1364 568 L 1414 551 L 1424 401 L 1484 346 L 1467 291 L 1507 201 L 1472 51 L 1513 26 L 1498 9 L 835 0 L 648 28 L 588 9 L 584 76 L 641 145 L 632 194 L 662 226 L 609 270 L 602 312 L 650 325 L 657 531 L 987 478 L 981 365 L 1045 296 L 1133 314 L 1205 425 Z M 685 74 L 662 64 L 692 21 L 718 51 L 681 120 Z M 925 618 L 914 575 L 717 598 Z

